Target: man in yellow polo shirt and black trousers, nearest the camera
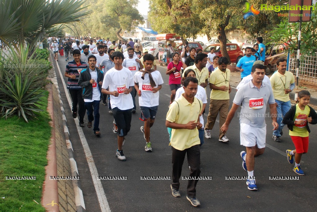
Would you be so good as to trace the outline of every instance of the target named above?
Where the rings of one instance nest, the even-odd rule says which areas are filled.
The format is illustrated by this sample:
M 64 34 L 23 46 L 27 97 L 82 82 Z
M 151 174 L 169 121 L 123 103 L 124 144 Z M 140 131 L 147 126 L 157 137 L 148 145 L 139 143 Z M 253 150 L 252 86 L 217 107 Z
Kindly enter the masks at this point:
M 165 125 L 172 128 L 171 149 L 172 149 L 172 195 L 180 196 L 179 178 L 181 177 L 182 166 L 185 154 L 190 166 L 190 175 L 187 185 L 186 198 L 195 207 L 199 206 L 196 199 L 196 184 L 200 175 L 200 140 L 198 129 L 202 128 L 199 122 L 199 114 L 203 103 L 195 95 L 198 88 L 198 80 L 188 77 L 184 80 L 184 94 L 170 105 L 166 115 Z

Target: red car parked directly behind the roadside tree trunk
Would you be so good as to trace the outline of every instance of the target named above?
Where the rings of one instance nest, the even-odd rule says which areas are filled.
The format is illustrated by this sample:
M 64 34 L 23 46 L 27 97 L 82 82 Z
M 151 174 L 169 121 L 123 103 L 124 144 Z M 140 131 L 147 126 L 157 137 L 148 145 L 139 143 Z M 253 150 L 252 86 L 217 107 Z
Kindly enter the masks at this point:
M 243 52 L 241 51 L 240 47 L 236 43 L 227 43 L 226 44 L 227 52 L 230 57 L 231 63 L 238 63 L 238 61 L 243 57 Z M 220 43 L 214 43 L 210 44 L 207 48 L 203 50 L 203 53 L 208 54 L 210 53 L 210 48 L 215 47 L 216 52 L 215 54 L 219 57 L 222 57 L 221 51 L 220 51 Z

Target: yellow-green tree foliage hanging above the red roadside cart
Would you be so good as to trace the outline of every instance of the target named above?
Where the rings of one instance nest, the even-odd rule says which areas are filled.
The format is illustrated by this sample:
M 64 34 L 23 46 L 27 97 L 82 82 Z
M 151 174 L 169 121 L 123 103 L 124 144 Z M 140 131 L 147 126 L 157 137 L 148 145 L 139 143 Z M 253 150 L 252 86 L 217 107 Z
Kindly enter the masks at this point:
M 199 13 L 193 12 L 196 5 L 189 0 L 150 0 L 148 19 L 159 33 L 173 33 L 184 39 L 195 38 L 201 33 L 203 22 Z

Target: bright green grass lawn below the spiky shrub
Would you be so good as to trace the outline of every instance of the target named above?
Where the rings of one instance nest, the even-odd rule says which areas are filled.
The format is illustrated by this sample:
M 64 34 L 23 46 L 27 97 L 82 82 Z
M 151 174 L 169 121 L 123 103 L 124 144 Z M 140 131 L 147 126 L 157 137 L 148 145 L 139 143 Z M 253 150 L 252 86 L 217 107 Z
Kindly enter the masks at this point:
M 51 136 L 48 93 L 37 119 L 27 123 L 17 116 L 0 118 L 0 211 L 45 211 L 41 197 Z M 6 176 L 36 176 L 36 180 L 8 180 Z

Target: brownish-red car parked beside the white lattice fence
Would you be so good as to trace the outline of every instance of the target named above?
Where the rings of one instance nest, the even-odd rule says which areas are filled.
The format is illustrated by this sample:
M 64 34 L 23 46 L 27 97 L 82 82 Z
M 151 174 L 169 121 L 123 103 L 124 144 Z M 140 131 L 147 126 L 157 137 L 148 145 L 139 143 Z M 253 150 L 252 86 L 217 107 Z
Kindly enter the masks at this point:
M 266 47 L 264 65 L 265 74 L 268 75 L 276 67 L 276 61 L 282 57 L 287 58 L 288 46 L 282 43 L 273 44 Z

